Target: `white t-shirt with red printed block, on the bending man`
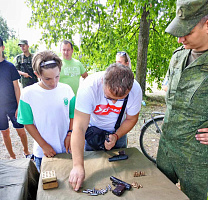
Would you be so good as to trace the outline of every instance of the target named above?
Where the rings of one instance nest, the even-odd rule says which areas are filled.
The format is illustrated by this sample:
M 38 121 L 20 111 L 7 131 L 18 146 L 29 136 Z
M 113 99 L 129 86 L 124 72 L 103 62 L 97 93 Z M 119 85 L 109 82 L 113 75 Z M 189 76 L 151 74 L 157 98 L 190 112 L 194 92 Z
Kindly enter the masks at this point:
M 105 98 L 102 78 L 105 72 L 97 72 L 88 76 L 80 85 L 76 98 L 75 108 L 83 113 L 91 114 L 90 126 L 114 131 L 115 123 L 121 111 L 123 101 L 115 104 Z M 142 90 L 139 83 L 134 80 L 129 92 L 125 113 L 136 115 L 141 109 Z M 124 120 L 123 116 L 122 121 Z

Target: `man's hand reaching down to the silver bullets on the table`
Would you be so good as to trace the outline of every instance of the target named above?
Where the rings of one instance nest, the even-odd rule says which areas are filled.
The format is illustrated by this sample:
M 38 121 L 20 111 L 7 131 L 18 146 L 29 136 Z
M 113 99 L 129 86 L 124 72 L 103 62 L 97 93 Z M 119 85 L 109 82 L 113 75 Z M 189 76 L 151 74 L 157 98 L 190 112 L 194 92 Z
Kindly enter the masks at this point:
M 69 183 L 75 191 L 78 191 L 85 178 L 85 171 L 82 165 L 73 167 L 69 176 Z

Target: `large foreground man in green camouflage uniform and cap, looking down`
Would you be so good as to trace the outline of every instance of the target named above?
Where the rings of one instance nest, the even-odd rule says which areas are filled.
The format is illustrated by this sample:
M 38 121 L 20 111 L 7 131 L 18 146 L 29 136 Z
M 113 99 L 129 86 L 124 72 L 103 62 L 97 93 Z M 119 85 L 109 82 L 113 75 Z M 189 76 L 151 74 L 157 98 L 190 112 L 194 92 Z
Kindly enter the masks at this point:
M 208 192 L 208 0 L 177 0 L 166 32 L 183 46 L 167 72 L 167 111 L 157 156 L 158 168 L 191 200 Z

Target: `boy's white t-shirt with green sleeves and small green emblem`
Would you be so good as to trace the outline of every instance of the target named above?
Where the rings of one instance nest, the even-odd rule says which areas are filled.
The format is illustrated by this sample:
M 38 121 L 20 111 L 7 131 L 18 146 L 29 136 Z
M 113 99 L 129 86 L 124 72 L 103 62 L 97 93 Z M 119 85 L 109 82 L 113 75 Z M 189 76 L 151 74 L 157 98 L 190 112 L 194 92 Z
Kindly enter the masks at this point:
M 24 125 L 34 124 L 56 153 L 64 153 L 69 118 L 74 118 L 74 104 L 74 93 L 67 84 L 58 83 L 56 88 L 46 90 L 35 83 L 22 90 L 17 121 Z M 44 156 L 36 141 L 33 154 L 39 158 Z

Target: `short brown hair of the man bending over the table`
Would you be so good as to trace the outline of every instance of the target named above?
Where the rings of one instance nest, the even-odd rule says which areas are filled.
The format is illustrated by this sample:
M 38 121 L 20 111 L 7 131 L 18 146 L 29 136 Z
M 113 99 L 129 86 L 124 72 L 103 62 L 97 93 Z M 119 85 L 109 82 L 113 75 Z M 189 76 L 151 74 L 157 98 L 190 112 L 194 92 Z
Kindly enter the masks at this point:
M 103 82 L 113 95 L 122 97 L 131 90 L 134 74 L 129 67 L 114 63 L 106 69 Z

